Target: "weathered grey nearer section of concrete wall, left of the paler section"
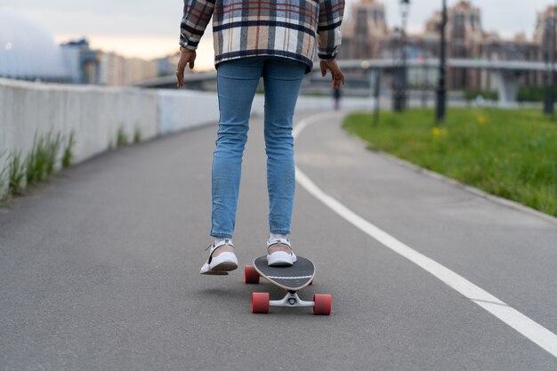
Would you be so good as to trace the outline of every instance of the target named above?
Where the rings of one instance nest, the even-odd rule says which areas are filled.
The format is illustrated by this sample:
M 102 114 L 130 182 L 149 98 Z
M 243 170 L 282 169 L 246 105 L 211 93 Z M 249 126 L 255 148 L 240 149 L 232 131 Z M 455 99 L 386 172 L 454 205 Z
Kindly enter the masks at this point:
M 157 135 L 157 92 L 0 80 L 0 153 L 26 154 L 36 135 L 74 132 L 77 162 L 108 149 L 122 128 Z

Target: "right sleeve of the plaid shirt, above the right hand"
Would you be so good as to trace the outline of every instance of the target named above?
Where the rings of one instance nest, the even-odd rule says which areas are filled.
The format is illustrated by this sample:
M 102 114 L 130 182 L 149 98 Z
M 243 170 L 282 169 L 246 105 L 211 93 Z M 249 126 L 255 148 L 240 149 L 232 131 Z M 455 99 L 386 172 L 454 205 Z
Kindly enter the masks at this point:
M 319 0 L 318 56 L 333 60 L 341 44 L 344 0 Z

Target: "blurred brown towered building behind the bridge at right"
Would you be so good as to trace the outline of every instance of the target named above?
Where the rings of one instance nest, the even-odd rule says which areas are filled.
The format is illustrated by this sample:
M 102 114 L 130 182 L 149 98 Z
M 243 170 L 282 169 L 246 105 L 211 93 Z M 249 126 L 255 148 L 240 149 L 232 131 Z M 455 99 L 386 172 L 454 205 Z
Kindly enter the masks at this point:
M 532 40 L 519 34 L 502 39 L 496 32 L 485 30 L 480 7 L 461 0 L 448 8 L 448 58 L 478 60 L 546 61 L 551 46 L 551 29 L 557 9 L 548 6 L 537 14 Z M 407 36 L 408 58 L 437 58 L 440 55 L 441 13 L 434 12 L 426 20 L 424 31 Z M 400 30 L 389 28 L 384 18 L 384 5 L 378 0 L 360 0 L 352 4 L 351 15 L 343 22 L 341 59 L 400 58 Z M 410 71 L 410 75 L 413 73 Z M 416 75 L 416 74 L 414 74 Z M 418 74 L 419 75 L 419 74 Z M 410 81 L 412 77 L 410 77 Z M 542 85 L 544 74 L 525 72 L 523 85 Z M 496 89 L 494 72 L 477 69 L 448 69 L 449 89 Z

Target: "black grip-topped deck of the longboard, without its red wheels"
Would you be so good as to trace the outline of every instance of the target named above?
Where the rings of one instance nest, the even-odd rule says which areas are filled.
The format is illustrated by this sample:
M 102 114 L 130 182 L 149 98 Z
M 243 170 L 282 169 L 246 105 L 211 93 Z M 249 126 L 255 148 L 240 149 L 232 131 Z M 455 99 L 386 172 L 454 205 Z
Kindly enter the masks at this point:
M 299 291 L 310 285 L 315 277 L 315 265 L 302 256 L 297 256 L 296 262 L 290 267 L 270 267 L 267 256 L 260 256 L 254 260 L 254 267 L 262 278 L 287 291 Z

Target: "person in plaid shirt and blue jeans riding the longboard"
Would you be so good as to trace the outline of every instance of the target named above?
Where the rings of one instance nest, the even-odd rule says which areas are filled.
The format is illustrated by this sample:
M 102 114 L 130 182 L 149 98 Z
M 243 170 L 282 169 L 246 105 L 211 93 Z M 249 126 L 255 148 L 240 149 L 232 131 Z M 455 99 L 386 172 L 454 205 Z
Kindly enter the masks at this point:
M 328 70 L 334 89 L 344 84 L 335 61 L 343 11 L 344 0 L 184 0 L 177 85 L 183 85 L 186 66 L 194 68 L 199 40 L 213 18 L 220 111 L 212 167 L 210 235 L 214 242 L 207 247 L 209 256 L 201 274 L 222 275 L 238 268 L 232 236 L 248 121 L 260 77 L 269 193 L 267 262 L 270 266 L 295 263 L 288 240 L 295 193 L 295 104 L 304 75 L 313 69 L 316 45 L 321 76 Z

